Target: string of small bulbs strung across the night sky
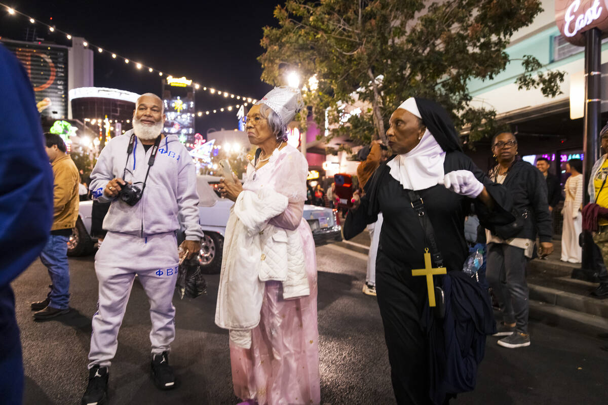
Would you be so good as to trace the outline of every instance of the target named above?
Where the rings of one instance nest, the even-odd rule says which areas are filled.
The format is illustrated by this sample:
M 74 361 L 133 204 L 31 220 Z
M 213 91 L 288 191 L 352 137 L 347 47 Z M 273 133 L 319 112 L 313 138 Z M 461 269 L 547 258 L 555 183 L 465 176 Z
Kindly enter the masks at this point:
M 21 15 L 21 16 L 24 16 L 26 19 L 29 20 L 30 24 L 40 24 L 41 26 L 47 27 L 47 29 L 49 30 L 49 32 L 51 32 L 51 33 L 57 33 L 57 34 L 63 34 L 63 35 L 66 36 L 67 39 L 69 39 L 70 41 L 72 40 L 72 35 L 71 34 L 65 32 L 65 31 L 62 31 L 60 29 L 57 29 L 55 26 L 50 26 L 49 24 L 46 24 L 46 22 L 40 21 L 40 20 L 35 19 L 35 18 L 33 18 L 33 17 L 29 16 L 29 15 L 26 15 L 26 14 L 24 14 L 22 12 L 19 12 L 19 10 L 13 9 L 12 7 L 9 7 L 9 5 L 6 5 L 6 4 L 4 4 L 2 2 L 0 2 L 0 6 L 5 7 L 5 9 L 7 10 L 7 12 L 9 13 L 9 15 Z M 154 69 L 154 67 L 147 66 L 147 65 L 145 65 L 143 63 L 140 63 L 140 62 L 135 62 L 133 60 L 130 60 L 129 58 L 126 58 L 125 56 L 119 55 L 118 53 L 112 52 L 112 51 L 110 51 L 108 49 L 105 49 L 105 48 L 103 48 L 101 46 L 97 46 L 95 44 L 92 44 L 92 43 L 89 43 L 89 42 L 86 42 L 86 41 L 82 43 L 82 46 L 83 47 L 88 47 L 89 49 L 92 49 L 92 50 L 96 49 L 97 53 L 103 53 L 103 54 L 111 55 L 112 59 L 122 60 L 125 64 L 131 64 L 132 63 L 133 66 L 135 66 L 137 70 L 148 70 L 148 72 L 150 72 L 150 73 L 157 73 L 161 77 L 165 74 L 164 72 L 162 72 L 162 70 Z M 169 75 L 169 76 L 175 77 L 174 75 Z M 243 95 L 235 95 L 233 93 L 230 93 L 230 92 L 227 92 L 227 91 L 224 91 L 224 90 L 218 90 L 218 89 L 216 89 L 216 87 L 201 86 L 201 84 L 199 84 L 199 83 L 194 83 L 194 87 L 195 87 L 196 90 L 202 89 L 203 91 L 206 91 L 209 94 L 223 96 L 224 98 L 236 98 L 237 100 L 243 100 L 244 101 L 244 103 L 243 103 L 244 106 L 247 106 L 247 103 L 254 103 L 254 104 L 257 103 L 257 100 L 255 98 L 246 97 L 246 96 L 243 96 Z M 238 108 L 239 106 L 240 106 L 240 104 L 237 104 L 236 107 Z M 230 109 L 228 109 L 228 108 L 230 108 Z M 223 112 L 223 111 L 231 111 L 231 110 L 232 110 L 232 106 L 219 109 L 219 111 L 221 111 L 221 112 Z M 212 110 L 212 111 L 215 113 L 218 110 Z M 211 114 L 211 112 L 210 111 L 206 111 L 204 113 L 202 113 L 202 112 L 198 112 L 197 113 L 197 115 L 199 117 L 201 117 L 203 114 L 204 115 L 209 115 L 209 114 Z

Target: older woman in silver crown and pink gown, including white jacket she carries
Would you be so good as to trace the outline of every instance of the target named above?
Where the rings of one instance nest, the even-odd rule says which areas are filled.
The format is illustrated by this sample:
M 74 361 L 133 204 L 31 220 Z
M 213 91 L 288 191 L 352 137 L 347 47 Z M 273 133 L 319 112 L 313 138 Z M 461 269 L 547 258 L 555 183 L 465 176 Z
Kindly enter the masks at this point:
M 276 87 L 247 114 L 257 145 L 244 184 L 223 179 L 235 202 L 226 226 L 215 323 L 230 330 L 234 393 L 243 405 L 320 403 L 317 264 L 302 218 L 308 162 L 287 143 L 303 107 L 299 90 Z

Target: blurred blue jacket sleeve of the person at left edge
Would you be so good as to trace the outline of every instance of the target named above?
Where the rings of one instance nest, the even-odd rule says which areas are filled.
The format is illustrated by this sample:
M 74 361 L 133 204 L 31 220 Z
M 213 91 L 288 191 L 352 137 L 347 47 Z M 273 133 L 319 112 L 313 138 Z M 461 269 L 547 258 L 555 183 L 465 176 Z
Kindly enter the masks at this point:
M 0 288 L 40 254 L 53 220 L 53 173 L 21 63 L 0 44 Z

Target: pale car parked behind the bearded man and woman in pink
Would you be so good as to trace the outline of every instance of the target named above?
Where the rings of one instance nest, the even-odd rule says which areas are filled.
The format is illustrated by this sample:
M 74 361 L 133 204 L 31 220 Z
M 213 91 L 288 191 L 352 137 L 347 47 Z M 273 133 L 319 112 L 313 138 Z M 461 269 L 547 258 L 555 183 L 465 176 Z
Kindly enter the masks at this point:
M 219 177 L 199 175 L 196 189 L 199 195 L 199 212 L 202 231 L 201 252 L 198 260 L 205 273 L 219 273 L 224 247 L 226 223 L 233 202 L 219 196 L 216 191 Z M 91 238 L 92 201 L 81 201 L 76 226 L 67 242 L 68 256 L 82 256 L 94 251 L 95 242 Z M 313 231 L 314 243 L 322 245 L 333 240 L 342 240 L 342 227 L 336 209 L 305 205 L 303 217 Z

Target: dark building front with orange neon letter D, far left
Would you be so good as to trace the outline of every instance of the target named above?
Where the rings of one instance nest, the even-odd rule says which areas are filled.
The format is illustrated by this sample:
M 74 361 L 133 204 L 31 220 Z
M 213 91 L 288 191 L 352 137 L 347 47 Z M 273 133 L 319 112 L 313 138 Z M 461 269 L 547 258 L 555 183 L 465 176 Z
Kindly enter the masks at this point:
M 6 41 L 30 77 L 38 111 L 44 117 L 67 117 L 67 47 Z

